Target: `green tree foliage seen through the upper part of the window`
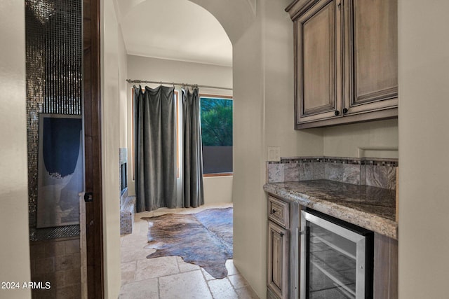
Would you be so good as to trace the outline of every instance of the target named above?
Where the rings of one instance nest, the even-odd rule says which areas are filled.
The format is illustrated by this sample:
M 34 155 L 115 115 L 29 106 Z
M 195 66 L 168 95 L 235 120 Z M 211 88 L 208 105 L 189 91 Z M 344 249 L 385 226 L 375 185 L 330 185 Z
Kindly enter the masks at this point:
M 201 97 L 203 146 L 232 146 L 232 99 Z

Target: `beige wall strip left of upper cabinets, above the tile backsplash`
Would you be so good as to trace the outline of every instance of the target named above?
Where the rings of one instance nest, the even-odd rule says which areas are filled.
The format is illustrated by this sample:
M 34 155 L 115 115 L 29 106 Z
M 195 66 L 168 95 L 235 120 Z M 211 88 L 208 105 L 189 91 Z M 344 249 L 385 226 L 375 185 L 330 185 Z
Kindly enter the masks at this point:
M 294 126 L 293 22 L 284 11 L 289 2 L 261 3 L 264 161 L 267 146 L 280 146 L 281 157 L 323 155 L 323 129 L 296 131 Z

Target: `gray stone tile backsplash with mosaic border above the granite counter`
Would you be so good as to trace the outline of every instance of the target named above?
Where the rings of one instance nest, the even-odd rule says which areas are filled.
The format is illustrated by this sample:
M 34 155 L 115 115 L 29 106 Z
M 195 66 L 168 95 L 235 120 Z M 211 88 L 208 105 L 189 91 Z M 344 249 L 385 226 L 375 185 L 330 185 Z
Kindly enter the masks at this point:
M 295 157 L 267 162 L 267 183 L 328 179 L 396 189 L 397 159 Z

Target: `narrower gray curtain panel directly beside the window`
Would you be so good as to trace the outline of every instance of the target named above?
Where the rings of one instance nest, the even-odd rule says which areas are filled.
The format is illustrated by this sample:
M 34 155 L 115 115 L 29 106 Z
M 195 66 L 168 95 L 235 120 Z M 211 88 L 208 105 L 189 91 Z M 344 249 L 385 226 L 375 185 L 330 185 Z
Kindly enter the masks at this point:
M 198 88 L 182 90 L 184 117 L 184 207 L 204 204 L 203 196 L 203 150 L 201 147 L 200 99 Z

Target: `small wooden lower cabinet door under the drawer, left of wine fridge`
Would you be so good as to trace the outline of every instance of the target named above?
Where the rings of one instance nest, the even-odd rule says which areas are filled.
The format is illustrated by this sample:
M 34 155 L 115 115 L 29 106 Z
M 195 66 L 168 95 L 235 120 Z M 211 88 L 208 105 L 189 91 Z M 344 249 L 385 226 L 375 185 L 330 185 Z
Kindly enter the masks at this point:
M 272 221 L 268 221 L 267 284 L 279 298 L 288 298 L 288 232 Z

